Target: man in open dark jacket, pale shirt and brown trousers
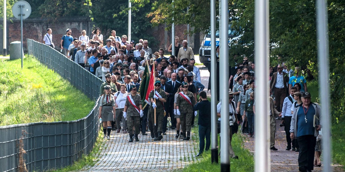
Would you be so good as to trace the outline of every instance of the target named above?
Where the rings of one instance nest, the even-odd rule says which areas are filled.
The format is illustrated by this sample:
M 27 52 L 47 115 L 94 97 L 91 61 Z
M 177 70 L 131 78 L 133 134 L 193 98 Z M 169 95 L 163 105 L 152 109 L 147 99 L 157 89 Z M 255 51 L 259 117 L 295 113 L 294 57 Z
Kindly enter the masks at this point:
M 274 96 L 276 98 L 276 109 L 281 112 L 284 99 L 289 95 L 289 75 L 283 72 L 283 67 L 281 65 L 278 65 L 277 71 L 278 72 L 273 73 L 272 79 L 269 83 L 269 88 L 274 91 Z

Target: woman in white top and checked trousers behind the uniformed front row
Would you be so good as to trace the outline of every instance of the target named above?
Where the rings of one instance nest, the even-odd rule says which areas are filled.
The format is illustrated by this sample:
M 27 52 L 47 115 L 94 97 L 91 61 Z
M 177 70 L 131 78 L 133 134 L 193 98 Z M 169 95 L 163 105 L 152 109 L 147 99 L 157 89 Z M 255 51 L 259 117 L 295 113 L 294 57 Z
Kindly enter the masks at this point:
M 122 112 L 124 111 L 125 108 L 125 103 L 127 99 L 128 92 L 126 91 L 126 84 L 121 84 L 120 85 L 120 91 L 116 92 L 114 94 L 114 99 L 115 99 L 115 122 L 117 126 L 117 133 L 121 132 L 121 119 L 122 119 L 122 127 L 123 130 L 122 132 L 127 133 L 127 121 L 125 118 L 122 116 Z

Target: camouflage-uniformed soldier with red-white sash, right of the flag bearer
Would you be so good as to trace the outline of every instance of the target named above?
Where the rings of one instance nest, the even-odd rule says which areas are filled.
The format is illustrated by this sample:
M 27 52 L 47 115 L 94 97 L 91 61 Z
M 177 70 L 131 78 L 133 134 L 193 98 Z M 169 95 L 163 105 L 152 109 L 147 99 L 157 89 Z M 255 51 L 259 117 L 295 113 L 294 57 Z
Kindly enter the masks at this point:
M 193 93 L 188 91 L 188 83 L 182 83 L 182 89 L 183 91 L 180 92 L 179 95 L 177 95 L 176 114 L 180 115 L 183 140 L 189 140 L 191 123 L 194 115 L 193 106 L 195 105 L 195 99 Z

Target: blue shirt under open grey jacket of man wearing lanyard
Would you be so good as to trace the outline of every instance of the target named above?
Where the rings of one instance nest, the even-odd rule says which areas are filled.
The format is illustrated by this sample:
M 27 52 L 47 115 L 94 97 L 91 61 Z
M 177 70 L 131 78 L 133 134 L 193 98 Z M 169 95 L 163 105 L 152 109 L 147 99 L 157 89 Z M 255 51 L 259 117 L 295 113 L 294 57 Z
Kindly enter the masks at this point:
M 307 108 L 304 108 L 301 105 L 297 112 L 297 137 L 305 136 L 305 135 L 313 135 L 314 136 L 314 115 L 315 109 L 312 104 L 309 105 L 309 109 L 307 112 L 307 122 L 305 122 L 305 115 L 304 111 L 307 111 Z

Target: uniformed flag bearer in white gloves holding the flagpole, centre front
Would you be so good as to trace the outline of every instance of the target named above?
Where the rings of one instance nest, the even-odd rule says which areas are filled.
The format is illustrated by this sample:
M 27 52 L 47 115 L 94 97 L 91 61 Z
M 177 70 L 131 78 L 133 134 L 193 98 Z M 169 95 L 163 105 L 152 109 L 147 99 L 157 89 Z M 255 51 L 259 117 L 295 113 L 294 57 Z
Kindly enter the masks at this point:
M 149 94 L 149 99 L 151 101 L 150 112 L 149 112 L 149 128 L 151 131 L 151 137 L 155 141 L 162 140 L 162 121 L 164 118 L 164 103 L 167 102 L 167 95 L 164 92 L 164 89 L 160 88 L 160 81 L 155 82 L 155 89 L 152 90 Z M 158 92 L 158 95 L 156 94 Z M 156 99 L 156 103 L 154 101 Z M 156 126 L 155 126 L 155 108 L 156 108 Z

